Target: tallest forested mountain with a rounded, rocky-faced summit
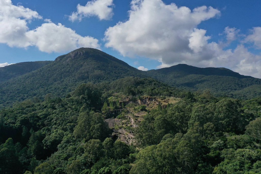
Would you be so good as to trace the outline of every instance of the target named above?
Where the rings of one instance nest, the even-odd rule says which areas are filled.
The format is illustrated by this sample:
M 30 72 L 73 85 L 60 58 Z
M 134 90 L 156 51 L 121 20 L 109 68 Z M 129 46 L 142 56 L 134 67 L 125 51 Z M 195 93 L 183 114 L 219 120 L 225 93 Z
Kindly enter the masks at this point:
M 48 93 L 63 97 L 81 83 L 110 82 L 126 76 L 145 77 L 143 71 L 105 52 L 79 48 L 41 68 L 1 82 L 0 107 L 32 97 L 43 99 Z

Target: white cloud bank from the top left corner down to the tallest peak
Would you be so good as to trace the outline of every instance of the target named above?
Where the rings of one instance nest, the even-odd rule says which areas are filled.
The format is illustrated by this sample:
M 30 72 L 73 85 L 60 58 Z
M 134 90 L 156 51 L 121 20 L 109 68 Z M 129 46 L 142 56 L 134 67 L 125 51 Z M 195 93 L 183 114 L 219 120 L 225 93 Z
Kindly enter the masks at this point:
M 42 19 L 36 12 L 21 5 L 13 5 L 10 0 L 0 0 L 0 43 L 11 47 L 27 48 L 36 46 L 44 52 L 64 52 L 79 47 L 100 48 L 98 40 L 82 37 L 61 23 L 56 25 L 45 19 L 41 26 L 29 30 L 28 23 Z

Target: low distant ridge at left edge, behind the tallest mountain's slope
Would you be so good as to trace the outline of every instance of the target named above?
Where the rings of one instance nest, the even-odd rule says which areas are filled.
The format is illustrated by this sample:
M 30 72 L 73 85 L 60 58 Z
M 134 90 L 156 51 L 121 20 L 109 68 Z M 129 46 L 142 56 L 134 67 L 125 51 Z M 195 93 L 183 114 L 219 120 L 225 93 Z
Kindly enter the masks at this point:
M 0 81 L 8 80 L 37 70 L 52 61 L 21 62 L 0 68 Z

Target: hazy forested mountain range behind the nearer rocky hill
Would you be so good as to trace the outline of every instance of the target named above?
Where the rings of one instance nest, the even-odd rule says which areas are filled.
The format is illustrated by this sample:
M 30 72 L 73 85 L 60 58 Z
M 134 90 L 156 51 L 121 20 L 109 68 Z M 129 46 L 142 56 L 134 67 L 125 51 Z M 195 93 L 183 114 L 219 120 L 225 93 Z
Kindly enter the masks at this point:
M 80 48 L 55 61 L 23 62 L 0 68 L 0 108 L 15 101 L 65 97 L 81 83 L 113 82 L 124 77 L 152 77 L 190 91 L 209 89 L 216 97 L 251 99 L 261 96 L 261 80 L 226 68 L 197 68 L 185 64 L 141 71 L 100 50 Z

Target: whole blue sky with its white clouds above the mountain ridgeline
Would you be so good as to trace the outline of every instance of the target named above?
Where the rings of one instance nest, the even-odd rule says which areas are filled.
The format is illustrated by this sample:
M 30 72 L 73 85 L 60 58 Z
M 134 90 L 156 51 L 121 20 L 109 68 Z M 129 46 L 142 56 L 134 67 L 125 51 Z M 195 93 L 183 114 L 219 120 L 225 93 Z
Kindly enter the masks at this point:
M 261 77 L 261 3 L 258 0 L 93 0 L 86 5 L 87 2 L 0 0 L 0 64 L 54 60 L 87 45 L 143 70 L 186 63 L 197 67 L 226 67 L 240 74 Z M 77 9 L 78 4 L 85 12 Z M 1 13 L 8 8 L 17 10 Z M 195 8 L 197 13 L 193 12 Z M 19 10 L 21 13 L 17 14 Z M 109 12 L 105 13 L 106 10 Z M 75 18 L 70 17 L 73 13 Z M 14 18 L 26 22 L 18 26 L 26 31 L 17 32 L 17 22 L 15 25 L 10 22 Z M 118 22 L 121 24 L 116 26 Z M 58 23 L 64 25 L 63 29 L 55 29 Z M 1 28 L 1 25 L 14 28 Z M 58 44 L 57 48 L 51 45 L 53 41 L 46 39 L 49 37 L 55 40 L 59 37 L 60 41 L 54 43 Z M 61 46 L 70 42 L 61 37 L 77 41 Z

